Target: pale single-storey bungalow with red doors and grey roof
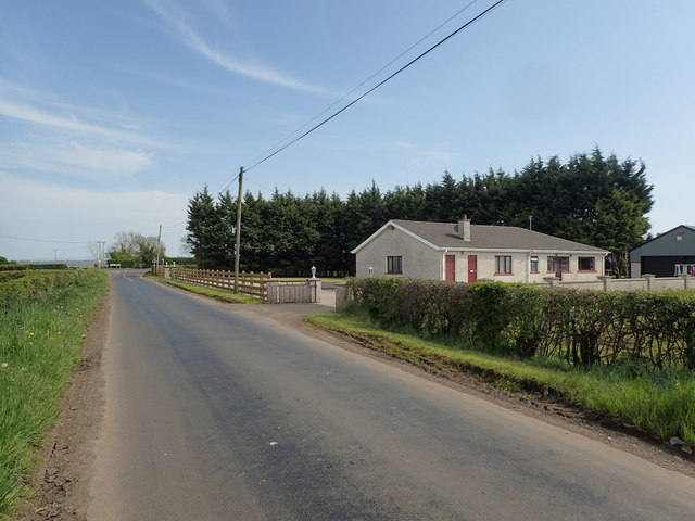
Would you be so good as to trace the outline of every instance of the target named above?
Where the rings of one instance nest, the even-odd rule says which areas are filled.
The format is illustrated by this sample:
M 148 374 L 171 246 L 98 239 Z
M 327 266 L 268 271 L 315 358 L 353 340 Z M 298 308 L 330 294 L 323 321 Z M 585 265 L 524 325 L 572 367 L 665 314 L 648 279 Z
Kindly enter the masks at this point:
M 592 281 L 608 252 L 509 226 L 390 220 L 355 247 L 357 277 L 542 283 Z

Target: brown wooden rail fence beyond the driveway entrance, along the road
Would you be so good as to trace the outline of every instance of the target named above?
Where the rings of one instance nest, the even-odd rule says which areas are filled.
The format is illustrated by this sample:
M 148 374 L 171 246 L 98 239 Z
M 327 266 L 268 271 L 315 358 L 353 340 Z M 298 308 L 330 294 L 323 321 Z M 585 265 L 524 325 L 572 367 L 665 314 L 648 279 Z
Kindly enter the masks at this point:
M 157 275 L 180 280 L 181 282 L 190 282 L 191 284 L 235 291 L 235 272 L 229 270 L 166 267 L 164 269 L 160 268 Z M 253 271 L 247 274 L 242 271 L 239 274 L 238 292 L 267 301 L 268 280 L 271 278 L 273 274 L 254 274 Z

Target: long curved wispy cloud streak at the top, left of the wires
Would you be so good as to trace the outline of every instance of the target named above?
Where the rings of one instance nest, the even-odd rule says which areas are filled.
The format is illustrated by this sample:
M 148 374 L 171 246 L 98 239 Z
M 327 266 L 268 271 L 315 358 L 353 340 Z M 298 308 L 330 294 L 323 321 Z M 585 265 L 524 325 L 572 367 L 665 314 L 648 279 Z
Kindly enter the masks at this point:
M 340 96 L 340 93 L 329 89 L 292 78 L 291 76 L 282 74 L 267 65 L 242 62 L 219 49 L 213 48 L 207 41 L 205 41 L 205 39 L 189 22 L 190 16 L 188 13 L 178 5 L 170 2 L 164 3 L 160 0 L 144 0 L 144 2 L 166 23 L 169 33 L 175 38 L 179 39 L 189 49 L 195 51 L 206 60 L 219 65 L 230 73 L 304 92 L 313 92 L 330 97 Z M 230 20 L 228 14 L 226 20 Z

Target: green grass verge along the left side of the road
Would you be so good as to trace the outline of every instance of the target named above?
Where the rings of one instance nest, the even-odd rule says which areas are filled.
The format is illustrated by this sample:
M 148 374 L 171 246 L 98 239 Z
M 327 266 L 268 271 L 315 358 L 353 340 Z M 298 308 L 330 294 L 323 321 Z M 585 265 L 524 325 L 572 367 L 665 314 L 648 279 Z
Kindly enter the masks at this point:
M 0 520 L 28 493 L 35 450 L 55 420 L 87 321 L 106 289 L 103 272 L 72 272 L 48 292 L 0 307 Z

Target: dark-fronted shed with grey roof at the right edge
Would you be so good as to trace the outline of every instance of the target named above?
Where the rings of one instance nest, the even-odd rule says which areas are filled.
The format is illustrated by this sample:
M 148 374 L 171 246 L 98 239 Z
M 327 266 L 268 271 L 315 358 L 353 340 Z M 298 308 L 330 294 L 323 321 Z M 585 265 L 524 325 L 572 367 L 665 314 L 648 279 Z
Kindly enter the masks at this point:
M 695 275 L 695 226 L 677 226 L 630 251 L 630 276 Z

